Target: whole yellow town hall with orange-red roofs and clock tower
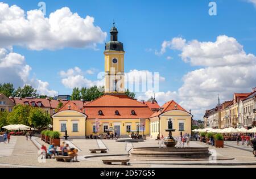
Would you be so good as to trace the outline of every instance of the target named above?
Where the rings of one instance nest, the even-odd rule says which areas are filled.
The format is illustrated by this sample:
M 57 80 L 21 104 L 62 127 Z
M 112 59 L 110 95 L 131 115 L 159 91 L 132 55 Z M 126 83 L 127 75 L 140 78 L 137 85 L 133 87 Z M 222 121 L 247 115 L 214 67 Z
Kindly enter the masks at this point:
M 127 137 L 139 132 L 156 138 L 168 136 L 168 120 L 173 122 L 174 136 L 180 132 L 191 134 L 192 114 L 175 101 L 159 106 L 154 98 L 137 101 L 125 95 L 125 51 L 118 41 L 118 31 L 113 25 L 110 41 L 105 45 L 105 94 L 84 106 L 77 106 L 72 100 L 65 103 L 52 115 L 53 130 L 65 130 L 71 138 L 85 138 L 90 135 L 113 131 Z

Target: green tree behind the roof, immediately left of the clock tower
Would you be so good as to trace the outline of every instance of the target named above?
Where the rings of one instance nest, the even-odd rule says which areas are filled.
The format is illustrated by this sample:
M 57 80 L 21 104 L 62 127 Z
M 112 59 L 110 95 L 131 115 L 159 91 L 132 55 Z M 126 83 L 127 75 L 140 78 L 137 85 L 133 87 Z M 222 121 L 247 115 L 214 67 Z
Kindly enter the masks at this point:
M 92 101 L 102 95 L 104 95 L 104 92 L 99 91 L 97 86 L 93 86 L 90 88 L 81 88 L 81 99 L 83 99 L 84 101 Z

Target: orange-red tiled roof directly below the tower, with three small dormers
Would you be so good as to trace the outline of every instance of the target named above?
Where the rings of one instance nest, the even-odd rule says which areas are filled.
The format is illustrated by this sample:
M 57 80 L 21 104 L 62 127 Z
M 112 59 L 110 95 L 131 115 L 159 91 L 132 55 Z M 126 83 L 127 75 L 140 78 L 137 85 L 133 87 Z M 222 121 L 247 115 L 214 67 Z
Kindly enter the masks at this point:
M 149 118 L 152 110 L 146 104 L 131 99 L 126 95 L 103 95 L 91 103 L 85 105 L 85 114 L 88 119 L 127 119 L 127 118 Z M 102 115 L 98 111 L 102 110 Z M 115 115 L 118 110 L 119 115 Z M 135 115 L 131 114 L 135 111 Z

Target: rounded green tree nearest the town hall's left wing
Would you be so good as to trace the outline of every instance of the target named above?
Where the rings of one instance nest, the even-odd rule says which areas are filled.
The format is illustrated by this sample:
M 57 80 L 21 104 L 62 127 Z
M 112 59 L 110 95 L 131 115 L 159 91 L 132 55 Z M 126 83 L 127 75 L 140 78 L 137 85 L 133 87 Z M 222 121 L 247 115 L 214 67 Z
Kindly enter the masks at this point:
M 31 108 L 28 116 L 28 122 L 30 123 L 30 126 L 36 127 L 40 130 L 42 127 L 46 127 L 51 124 L 51 117 L 44 113 L 40 108 Z

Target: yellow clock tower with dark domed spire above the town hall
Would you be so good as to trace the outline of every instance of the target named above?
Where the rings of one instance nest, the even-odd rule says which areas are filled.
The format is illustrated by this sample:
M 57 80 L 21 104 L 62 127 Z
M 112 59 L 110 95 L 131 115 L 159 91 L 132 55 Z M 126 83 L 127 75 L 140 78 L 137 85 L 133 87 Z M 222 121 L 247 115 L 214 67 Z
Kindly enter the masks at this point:
M 125 70 L 122 42 L 118 41 L 118 31 L 113 23 L 110 29 L 110 41 L 105 45 L 105 93 L 124 94 L 125 93 Z

